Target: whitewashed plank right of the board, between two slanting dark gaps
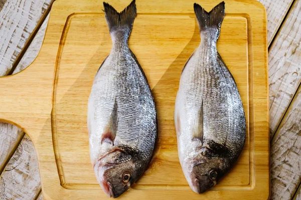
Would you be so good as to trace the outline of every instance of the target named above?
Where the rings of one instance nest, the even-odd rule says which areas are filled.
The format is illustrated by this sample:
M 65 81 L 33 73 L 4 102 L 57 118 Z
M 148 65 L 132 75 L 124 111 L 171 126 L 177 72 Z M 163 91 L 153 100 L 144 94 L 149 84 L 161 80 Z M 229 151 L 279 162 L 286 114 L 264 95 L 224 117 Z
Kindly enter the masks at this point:
M 270 133 L 274 134 L 301 80 L 301 0 L 296 0 L 269 51 Z

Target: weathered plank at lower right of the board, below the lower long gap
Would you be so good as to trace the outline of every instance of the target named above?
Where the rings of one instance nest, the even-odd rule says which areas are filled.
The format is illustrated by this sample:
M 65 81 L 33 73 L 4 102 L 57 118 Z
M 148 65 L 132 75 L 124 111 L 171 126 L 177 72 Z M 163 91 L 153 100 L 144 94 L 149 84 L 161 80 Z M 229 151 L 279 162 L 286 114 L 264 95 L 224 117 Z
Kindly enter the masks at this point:
M 301 87 L 271 141 L 271 196 L 291 199 L 301 178 Z

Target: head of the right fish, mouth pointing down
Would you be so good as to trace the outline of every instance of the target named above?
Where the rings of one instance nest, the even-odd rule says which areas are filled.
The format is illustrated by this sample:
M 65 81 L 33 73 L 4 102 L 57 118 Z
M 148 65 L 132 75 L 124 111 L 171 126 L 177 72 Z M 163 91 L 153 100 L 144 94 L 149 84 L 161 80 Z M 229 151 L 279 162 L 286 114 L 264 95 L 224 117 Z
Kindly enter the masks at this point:
M 213 187 L 225 174 L 225 159 L 201 153 L 189 160 L 187 180 L 193 191 L 203 193 Z

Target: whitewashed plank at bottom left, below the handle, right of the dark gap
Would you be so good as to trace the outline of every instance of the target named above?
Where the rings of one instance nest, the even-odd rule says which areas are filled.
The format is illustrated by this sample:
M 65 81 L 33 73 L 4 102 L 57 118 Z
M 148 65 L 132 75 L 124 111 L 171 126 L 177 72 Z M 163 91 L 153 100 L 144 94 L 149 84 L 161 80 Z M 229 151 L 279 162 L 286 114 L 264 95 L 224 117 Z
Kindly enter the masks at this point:
M 3 199 L 34 199 L 41 189 L 35 147 L 25 135 L 1 175 Z

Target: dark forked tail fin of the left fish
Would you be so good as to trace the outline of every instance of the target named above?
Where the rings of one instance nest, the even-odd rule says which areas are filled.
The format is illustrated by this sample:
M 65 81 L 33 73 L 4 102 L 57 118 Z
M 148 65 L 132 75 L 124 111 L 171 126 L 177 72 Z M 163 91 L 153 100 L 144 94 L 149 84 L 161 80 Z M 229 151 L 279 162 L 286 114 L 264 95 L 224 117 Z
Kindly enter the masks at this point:
M 103 6 L 110 33 L 117 29 L 127 29 L 129 35 L 137 15 L 135 0 L 132 0 L 121 12 L 117 12 L 113 6 L 106 2 L 103 2 Z

